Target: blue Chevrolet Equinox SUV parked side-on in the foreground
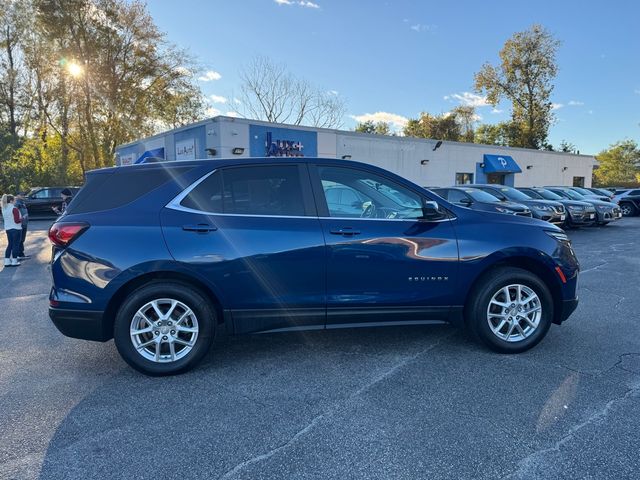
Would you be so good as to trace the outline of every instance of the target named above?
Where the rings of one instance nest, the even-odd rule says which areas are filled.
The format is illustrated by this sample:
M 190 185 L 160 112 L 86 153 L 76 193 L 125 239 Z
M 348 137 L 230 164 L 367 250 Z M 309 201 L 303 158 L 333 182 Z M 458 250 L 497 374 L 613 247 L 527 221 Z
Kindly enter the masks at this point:
M 578 302 L 560 228 L 344 160 L 95 170 L 49 238 L 57 328 L 114 338 L 149 375 L 192 368 L 219 335 L 345 326 L 450 322 L 522 352 Z

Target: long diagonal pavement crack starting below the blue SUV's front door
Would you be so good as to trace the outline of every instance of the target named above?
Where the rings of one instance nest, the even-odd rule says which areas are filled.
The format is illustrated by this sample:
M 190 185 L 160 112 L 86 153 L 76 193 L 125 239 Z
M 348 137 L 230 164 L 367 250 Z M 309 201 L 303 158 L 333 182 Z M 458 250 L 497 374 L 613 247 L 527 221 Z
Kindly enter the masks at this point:
M 325 419 L 329 419 L 331 418 L 341 407 L 347 405 L 351 400 L 353 400 L 354 398 L 358 397 L 359 395 L 362 395 L 364 392 L 366 392 L 367 390 L 369 390 L 371 387 L 373 387 L 374 385 L 377 385 L 378 383 L 384 381 L 385 379 L 389 378 L 391 375 L 393 375 L 395 372 L 397 372 L 398 370 L 400 370 L 402 367 L 410 364 L 411 362 L 413 362 L 414 360 L 416 360 L 418 357 L 420 357 L 421 355 L 424 355 L 425 353 L 433 350 L 434 348 L 440 346 L 444 340 L 446 340 L 447 338 L 451 337 L 455 332 L 452 332 L 450 334 L 444 335 L 442 338 L 440 338 L 438 341 L 432 343 L 431 345 L 429 345 L 427 348 L 420 350 L 418 353 L 415 353 L 413 355 L 410 355 L 408 357 L 403 358 L 401 361 L 399 361 L 398 363 L 396 363 L 395 365 L 393 365 L 391 368 L 387 369 L 386 371 L 382 372 L 381 374 L 375 376 L 373 379 L 371 379 L 369 382 L 367 382 L 365 385 L 361 386 L 360 388 L 358 388 L 356 391 L 354 391 L 353 393 L 351 393 L 349 396 L 347 396 L 346 398 L 343 398 L 342 400 L 338 400 L 337 402 L 335 402 L 330 408 L 328 408 L 327 410 L 325 410 L 324 412 L 320 413 L 319 415 L 316 415 L 311 422 L 309 422 L 304 428 L 298 430 L 291 438 L 289 438 L 289 440 L 287 440 L 284 443 L 281 443 L 280 445 L 278 445 L 275 448 L 272 448 L 271 450 L 269 450 L 268 452 L 265 453 L 261 453 L 260 455 L 256 455 L 254 457 L 251 457 L 239 464 L 237 464 L 235 467 L 231 468 L 230 470 L 227 470 L 227 472 L 225 472 L 221 477 L 219 477 L 220 479 L 227 479 L 227 478 L 232 478 L 234 477 L 237 473 L 241 472 L 243 469 L 245 469 L 246 467 L 253 465 L 254 463 L 258 463 L 258 462 L 262 462 L 264 460 L 268 460 L 269 458 L 273 457 L 274 455 L 276 455 L 277 453 L 280 453 L 284 450 L 286 450 L 287 448 L 289 448 L 291 445 L 293 445 L 294 443 L 296 443 L 296 441 L 303 437 L 304 435 L 306 435 L 308 432 L 310 432 L 311 430 L 313 430 L 318 424 L 320 424 L 323 420 Z

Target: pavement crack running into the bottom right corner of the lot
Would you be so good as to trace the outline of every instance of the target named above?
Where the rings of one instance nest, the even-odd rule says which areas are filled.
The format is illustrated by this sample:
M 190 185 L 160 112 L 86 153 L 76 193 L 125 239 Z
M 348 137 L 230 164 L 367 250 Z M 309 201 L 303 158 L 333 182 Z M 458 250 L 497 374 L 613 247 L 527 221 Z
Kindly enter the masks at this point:
M 531 472 L 531 469 L 535 468 L 540 464 L 544 465 L 545 457 L 547 456 L 547 454 L 553 453 L 553 452 L 559 453 L 560 449 L 564 445 L 566 445 L 568 442 L 573 440 L 582 429 L 590 425 L 601 422 L 609 415 L 609 412 L 611 412 L 611 410 L 615 408 L 618 404 L 623 403 L 627 399 L 636 396 L 638 393 L 640 393 L 640 384 L 633 388 L 630 388 L 624 394 L 609 400 L 602 409 L 590 415 L 583 422 L 571 427 L 569 431 L 565 435 L 563 435 L 562 438 L 560 438 L 560 440 L 556 441 L 552 446 L 543 448 L 540 450 L 536 450 L 535 452 L 523 458 L 518 463 L 519 465 L 518 469 L 502 477 L 503 480 L 511 479 L 511 478 L 521 478 L 521 479 L 533 478 L 534 474 Z M 545 474 L 543 476 L 547 476 L 547 475 Z

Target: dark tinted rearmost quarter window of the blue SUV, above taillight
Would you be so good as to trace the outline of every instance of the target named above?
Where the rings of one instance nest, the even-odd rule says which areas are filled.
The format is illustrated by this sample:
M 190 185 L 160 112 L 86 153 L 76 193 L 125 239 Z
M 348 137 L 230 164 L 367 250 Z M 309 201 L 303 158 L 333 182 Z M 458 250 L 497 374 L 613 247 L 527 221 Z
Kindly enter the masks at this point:
M 87 175 L 87 181 L 67 207 L 67 213 L 119 208 L 164 185 L 193 167 L 137 169 L 122 167 L 114 173 Z

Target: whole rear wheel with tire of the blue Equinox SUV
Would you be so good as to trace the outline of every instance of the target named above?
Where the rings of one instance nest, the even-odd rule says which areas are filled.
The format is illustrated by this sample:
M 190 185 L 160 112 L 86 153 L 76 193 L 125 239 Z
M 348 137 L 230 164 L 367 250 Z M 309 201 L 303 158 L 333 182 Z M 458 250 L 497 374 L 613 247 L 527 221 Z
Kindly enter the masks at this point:
M 206 355 L 216 314 L 198 290 L 153 282 L 134 291 L 118 310 L 114 340 L 122 358 L 147 375 L 190 370 Z

